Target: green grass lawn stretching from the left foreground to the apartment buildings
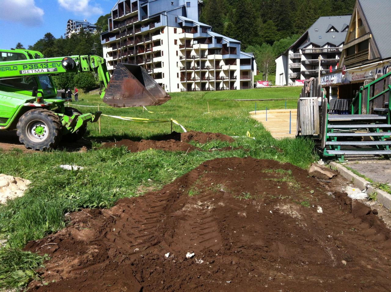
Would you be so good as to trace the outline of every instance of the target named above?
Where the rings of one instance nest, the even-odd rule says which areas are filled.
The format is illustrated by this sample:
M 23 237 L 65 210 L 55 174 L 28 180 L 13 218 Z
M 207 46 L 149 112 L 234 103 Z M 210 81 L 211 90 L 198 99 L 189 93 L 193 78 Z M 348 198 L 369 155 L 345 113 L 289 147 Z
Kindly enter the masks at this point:
M 106 115 L 170 120 L 195 131 L 219 132 L 240 136 L 233 145 L 243 149 L 227 152 L 193 151 L 164 152 L 147 150 L 130 153 L 124 148 L 92 149 L 85 153 L 55 150 L 50 153 L 0 151 L 0 173 L 32 181 L 24 197 L 0 206 L 0 239 L 7 246 L 0 249 L 0 287 L 22 287 L 32 277 L 43 258 L 22 252 L 29 240 L 39 239 L 66 225 L 64 214 L 80 208 L 109 208 L 122 197 L 141 195 L 146 188 L 161 188 L 182 176 L 203 161 L 220 157 L 275 159 L 307 167 L 315 159 L 313 142 L 306 139 L 275 140 L 262 124 L 249 117 L 255 102 L 232 99 L 287 99 L 287 107 L 295 108 L 300 88 L 263 88 L 210 93 L 172 93 L 172 99 L 161 106 L 142 108 L 106 108 Z M 79 105 L 106 106 L 97 95 L 80 95 Z M 210 113 L 207 112 L 209 103 Z M 257 108 L 278 109 L 284 100 L 257 102 Z M 96 108 L 77 107 L 84 113 Z M 103 116 L 101 133 L 98 123 L 88 125 L 87 140 L 141 140 L 170 133 L 170 123 L 138 123 Z M 178 125 L 174 130 L 180 132 Z M 246 137 L 249 131 L 255 140 Z M 1 139 L 0 133 L 0 139 Z M 197 145 L 203 150 L 226 147 L 226 142 Z M 282 149 L 277 151 L 276 147 Z M 245 149 L 248 149 L 245 150 Z M 278 149 L 279 150 L 279 149 Z M 84 170 L 68 171 L 61 164 L 83 166 Z M 151 181 L 149 181 L 151 179 Z

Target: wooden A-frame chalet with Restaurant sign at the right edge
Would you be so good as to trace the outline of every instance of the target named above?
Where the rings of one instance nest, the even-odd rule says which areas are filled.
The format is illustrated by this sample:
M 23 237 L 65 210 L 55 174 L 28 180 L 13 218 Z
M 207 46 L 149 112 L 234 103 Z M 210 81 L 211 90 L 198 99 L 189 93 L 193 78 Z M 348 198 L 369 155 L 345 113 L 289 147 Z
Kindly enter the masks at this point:
M 321 77 L 329 99 L 352 99 L 365 80 L 386 74 L 391 66 L 390 9 L 390 0 L 356 0 L 338 68 Z

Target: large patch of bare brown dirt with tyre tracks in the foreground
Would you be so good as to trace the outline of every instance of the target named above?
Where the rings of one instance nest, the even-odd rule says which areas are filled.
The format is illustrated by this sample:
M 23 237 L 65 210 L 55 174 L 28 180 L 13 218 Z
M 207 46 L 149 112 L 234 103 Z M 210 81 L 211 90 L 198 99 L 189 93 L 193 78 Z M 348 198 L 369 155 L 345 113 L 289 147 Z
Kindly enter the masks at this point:
M 67 228 L 29 242 L 52 257 L 48 285 L 30 287 L 389 291 L 390 233 L 364 209 L 290 164 L 214 159 L 160 191 L 73 213 Z

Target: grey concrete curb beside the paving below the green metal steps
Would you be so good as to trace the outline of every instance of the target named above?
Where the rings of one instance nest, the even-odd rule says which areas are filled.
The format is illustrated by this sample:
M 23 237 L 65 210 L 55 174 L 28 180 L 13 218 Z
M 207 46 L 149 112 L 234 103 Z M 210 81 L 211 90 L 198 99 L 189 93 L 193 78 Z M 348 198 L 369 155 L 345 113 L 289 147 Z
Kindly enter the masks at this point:
M 330 162 L 329 164 L 331 167 L 335 167 L 339 174 L 341 176 L 345 177 L 346 179 L 352 181 L 353 185 L 355 185 L 360 190 L 365 190 L 365 192 L 369 195 L 371 193 L 376 192 L 377 193 L 377 202 L 382 204 L 384 207 L 386 207 L 388 210 L 391 210 L 391 195 L 387 192 L 384 192 L 382 190 L 379 190 L 378 188 L 374 188 L 371 186 L 371 183 L 362 177 L 357 176 L 357 174 L 354 174 L 350 170 L 348 170 L 343 165 L 336 163 L 336 162 Z

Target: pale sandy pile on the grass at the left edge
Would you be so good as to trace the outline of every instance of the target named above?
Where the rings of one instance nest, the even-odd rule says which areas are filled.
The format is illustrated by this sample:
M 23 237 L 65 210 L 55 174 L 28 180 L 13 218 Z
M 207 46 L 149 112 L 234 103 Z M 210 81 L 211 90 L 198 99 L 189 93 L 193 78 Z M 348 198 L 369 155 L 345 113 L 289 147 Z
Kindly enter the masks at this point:
M 27 179 L 0 174 L 0 204 L 22 197 L 30 183 Z

